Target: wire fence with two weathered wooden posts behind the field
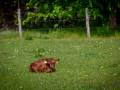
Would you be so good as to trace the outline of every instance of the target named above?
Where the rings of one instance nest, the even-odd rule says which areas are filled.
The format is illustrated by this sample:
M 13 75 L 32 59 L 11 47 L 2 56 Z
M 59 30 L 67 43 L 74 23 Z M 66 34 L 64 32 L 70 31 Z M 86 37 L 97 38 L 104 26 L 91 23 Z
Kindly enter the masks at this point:
M 88 17 L 88 9 L 86 8 L 86 19 L 64 19 L 64 20 L 47 20 L 47 21 L 29 21 L 25 26 L 22 26 L 23 30 L 39 30 L 39 31 L 48 31 L 48 30 L 56 30 L 56 29 L 67 29 L 67 30 L 86 30 L 87 29 L 87 37 L 90 37 L 90 30 L 96 29 L 108 29 L 111 28 L 108 24 L 110 22 L 109 19 L 89 19 Z M 20 16 L 18 17 L 18 21 L 20 20 Z M 120 19 L 116 19 L 117 26 L 115 29 L 120 28 Z M 104 22 L 104 23 L 103 23 Z M 8 21 L 3 24 L 4 29 L 16 29 L 19 30 L 19 35 L 21 35 L 21 26 L 14 26 L 14 21 Z M 18 24 L 20 25 L 20 24 Z M 55 26 L 56 25 L 56 26 Z M 90 26 L 90 27 L 89 27 Z M 102 32 L 104 33 L 104 32 Z

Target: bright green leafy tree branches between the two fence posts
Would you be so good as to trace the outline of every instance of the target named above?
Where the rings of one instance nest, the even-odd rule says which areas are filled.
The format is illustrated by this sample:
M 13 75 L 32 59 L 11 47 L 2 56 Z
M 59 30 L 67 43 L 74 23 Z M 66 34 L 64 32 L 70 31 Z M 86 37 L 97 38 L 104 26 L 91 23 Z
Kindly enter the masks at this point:
M 27 18 L 22 24 L 25 25 L 29 21 L 37 24 L 38 21 L 57 19 L 60 21 L 54 23 L 54 28 L 56 28 L 59 26 L 58 24 L 65 22 L 65 20 L 85 18 L 85 8 L 82 7 L 82 3 L 79 0 L 30 0 L 27 9 L 34 8 L 34 11 L 27 14 Z

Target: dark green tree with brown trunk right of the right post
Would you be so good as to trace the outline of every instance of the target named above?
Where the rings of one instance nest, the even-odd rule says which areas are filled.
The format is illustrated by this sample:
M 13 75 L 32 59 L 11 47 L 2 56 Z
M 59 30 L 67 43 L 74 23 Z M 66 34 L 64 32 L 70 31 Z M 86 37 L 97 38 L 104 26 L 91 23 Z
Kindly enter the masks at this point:
M 112 28 L 117 28 L 116 12 L 120 9 L 120 0 L 90 0 L 90 9 L 94 18 L 110 20 Z

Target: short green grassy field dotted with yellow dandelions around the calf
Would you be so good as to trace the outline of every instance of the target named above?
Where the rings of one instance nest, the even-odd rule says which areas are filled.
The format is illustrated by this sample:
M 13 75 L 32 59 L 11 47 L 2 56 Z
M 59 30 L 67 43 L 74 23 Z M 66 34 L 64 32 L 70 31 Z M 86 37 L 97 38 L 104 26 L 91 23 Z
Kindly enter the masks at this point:
M 54 39 L 51 34 L 50 39 L 25 40 L 17 33 L 0 35 L 0 90 L 120 89 L 119 37 Z M 56 72 L 29 72 L 40 58 L 59 58 Z

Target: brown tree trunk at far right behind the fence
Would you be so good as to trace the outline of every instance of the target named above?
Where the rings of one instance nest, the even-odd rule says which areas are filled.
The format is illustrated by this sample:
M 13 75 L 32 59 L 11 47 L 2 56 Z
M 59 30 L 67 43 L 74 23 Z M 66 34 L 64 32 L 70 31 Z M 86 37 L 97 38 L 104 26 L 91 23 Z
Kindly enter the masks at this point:
M 113 10 L 111 13 L 113 13 L 110 19 L 110 25 L 111 25 L 111 29 L 115 30 L 117 29 L 117 20 L 116 20 L 116 10 Z

